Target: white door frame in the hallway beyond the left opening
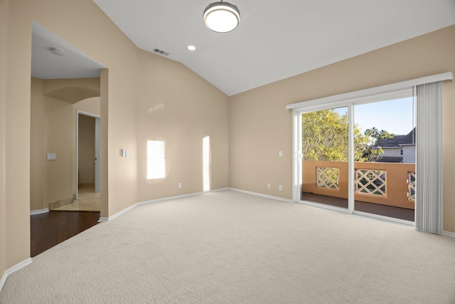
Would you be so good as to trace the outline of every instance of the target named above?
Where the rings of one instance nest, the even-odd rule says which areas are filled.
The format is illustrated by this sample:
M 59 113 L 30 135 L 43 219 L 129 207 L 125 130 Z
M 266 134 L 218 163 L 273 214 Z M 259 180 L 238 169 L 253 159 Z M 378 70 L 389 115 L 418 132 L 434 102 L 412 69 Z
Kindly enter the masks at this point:
M 79 115 L 95 118 L 95 192 L 100 192 L 100 115 L 81 110 L 76 111 L 76 191 L 75 199 L 79 197 Z

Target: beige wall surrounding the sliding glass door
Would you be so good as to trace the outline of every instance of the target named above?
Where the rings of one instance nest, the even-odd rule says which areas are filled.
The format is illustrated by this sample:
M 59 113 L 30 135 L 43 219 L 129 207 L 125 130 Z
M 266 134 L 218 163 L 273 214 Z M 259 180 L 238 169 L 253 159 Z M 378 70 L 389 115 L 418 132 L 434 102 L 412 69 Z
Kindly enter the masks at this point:
M 291 199 L 292 124 L 286 105 L 447 71 L 455 26 L 264 85 L 230 98 L 230 187 Z M 444 83 L 444 230 L 455 232 L 455 83 Z M 278 157 L 283 150 L 284 157 Z M 267 182 L 272 189 L 267 189 Z M 283 184 L 283 192 L 278 191 Z

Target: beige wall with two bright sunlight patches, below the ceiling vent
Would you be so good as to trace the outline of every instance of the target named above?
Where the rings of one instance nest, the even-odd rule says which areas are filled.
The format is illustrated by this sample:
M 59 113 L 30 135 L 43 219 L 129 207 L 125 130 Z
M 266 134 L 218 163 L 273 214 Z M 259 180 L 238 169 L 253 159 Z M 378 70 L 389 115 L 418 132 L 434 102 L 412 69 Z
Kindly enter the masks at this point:
M 202 192 L 205 136 L 212 150 L 211 189 L 228 187 L 228 96 L 181 63 L 145 51 L 140 58 L 139 201 Z M 165 179 L 146 179 L 147 140 L 165 142 Z

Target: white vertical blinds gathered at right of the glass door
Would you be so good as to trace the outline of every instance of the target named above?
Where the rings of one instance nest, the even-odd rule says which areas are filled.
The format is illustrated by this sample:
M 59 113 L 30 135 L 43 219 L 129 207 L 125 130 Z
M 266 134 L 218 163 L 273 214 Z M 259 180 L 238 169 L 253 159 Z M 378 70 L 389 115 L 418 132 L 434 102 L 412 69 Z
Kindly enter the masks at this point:
M 415 228 L 441 233 L 442 82 L 417 85 Z

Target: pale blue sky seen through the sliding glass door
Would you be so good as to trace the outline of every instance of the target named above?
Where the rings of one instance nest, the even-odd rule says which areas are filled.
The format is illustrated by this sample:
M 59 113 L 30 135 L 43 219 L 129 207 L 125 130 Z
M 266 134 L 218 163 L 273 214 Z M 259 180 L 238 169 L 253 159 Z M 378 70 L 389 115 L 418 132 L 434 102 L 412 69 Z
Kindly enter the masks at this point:
M 346 111 L 347 108 L 341 108 L 337 112 L 344 114 Z M 387 100 L 354 107 L 354 122 L 362 131 L 376 127 L 378 130 L 386 130 L 396 135 L 405 135 L 412 130 L 412 115 L 412 98 Z

